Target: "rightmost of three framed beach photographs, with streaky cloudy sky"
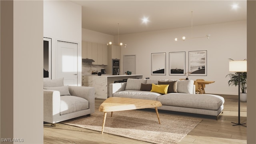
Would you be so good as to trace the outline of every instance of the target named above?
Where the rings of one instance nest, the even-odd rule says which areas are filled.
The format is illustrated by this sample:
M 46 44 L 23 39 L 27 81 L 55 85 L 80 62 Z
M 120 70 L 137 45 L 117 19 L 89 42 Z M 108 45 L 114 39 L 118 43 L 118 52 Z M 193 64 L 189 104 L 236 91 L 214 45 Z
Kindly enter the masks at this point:
M 190 76 L 207 76 L 207 50 L 188 52 Z

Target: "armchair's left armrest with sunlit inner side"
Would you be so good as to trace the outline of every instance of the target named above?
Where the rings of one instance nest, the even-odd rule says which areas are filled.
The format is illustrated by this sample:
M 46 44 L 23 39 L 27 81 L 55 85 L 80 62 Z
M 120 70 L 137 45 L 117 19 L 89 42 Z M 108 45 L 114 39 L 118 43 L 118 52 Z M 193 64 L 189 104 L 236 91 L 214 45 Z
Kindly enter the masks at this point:
M 44 90 L 44 122 L 53 123 L 54 116 L 60 116 L 60 92 Z

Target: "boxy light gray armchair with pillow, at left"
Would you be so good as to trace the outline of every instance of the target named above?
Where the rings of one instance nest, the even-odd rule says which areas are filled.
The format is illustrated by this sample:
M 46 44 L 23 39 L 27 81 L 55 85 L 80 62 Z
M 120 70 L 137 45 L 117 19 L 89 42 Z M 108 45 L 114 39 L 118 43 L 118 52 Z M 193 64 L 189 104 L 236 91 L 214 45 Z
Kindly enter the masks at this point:
M 94 113 L 95 89 L 63 86 L 63 78 L 44 80 L 44 122 L 55 123 Z

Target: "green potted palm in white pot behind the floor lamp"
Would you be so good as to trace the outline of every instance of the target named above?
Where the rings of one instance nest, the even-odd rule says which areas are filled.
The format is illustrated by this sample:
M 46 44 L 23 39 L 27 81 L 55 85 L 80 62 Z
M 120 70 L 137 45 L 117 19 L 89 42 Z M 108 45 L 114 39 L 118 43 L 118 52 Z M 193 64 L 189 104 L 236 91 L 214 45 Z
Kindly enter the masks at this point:
M 238 72 L 236 72 L 235 74 L 228 74 L 226 75 L 226 77 L 229 77 L 230 80 L 228 81 L 228 86 L 237 86 L 238 85 Z M 240 93 L 240 100 L 241 101 L 246 101 L 247 99 L 247 94 L 246 94 L 246 90 L 247 90 L 247 72 L 240 72 L 240 89 L 241 89 L 241 93 Z

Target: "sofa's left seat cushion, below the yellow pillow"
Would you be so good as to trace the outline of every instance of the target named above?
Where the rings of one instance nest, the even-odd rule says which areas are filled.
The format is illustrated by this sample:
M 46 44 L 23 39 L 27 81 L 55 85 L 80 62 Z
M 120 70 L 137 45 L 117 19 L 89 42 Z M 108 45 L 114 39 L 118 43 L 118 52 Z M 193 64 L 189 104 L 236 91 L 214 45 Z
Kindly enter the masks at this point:
M 124 90 L 113 94 L 114 97 L 123 98 L 138 98 L 145 100 L 156 100 L 158 96 L 161 96 L 157 92 L 139 91 L 139 90 Z

